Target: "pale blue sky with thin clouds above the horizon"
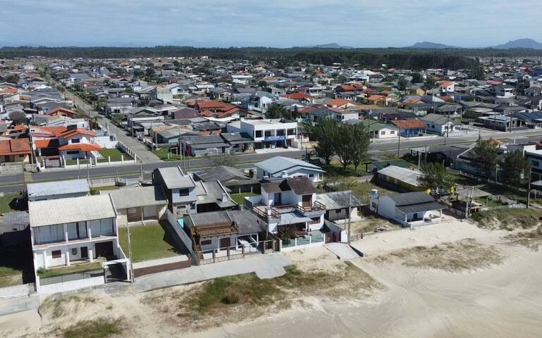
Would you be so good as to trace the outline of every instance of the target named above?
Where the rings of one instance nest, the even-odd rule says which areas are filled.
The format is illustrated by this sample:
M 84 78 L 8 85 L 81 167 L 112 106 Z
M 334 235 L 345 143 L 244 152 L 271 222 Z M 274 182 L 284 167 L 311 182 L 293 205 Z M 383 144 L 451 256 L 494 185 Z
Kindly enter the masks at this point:
M 0 46 L 495 46 L 541 0 L 0 0 Z

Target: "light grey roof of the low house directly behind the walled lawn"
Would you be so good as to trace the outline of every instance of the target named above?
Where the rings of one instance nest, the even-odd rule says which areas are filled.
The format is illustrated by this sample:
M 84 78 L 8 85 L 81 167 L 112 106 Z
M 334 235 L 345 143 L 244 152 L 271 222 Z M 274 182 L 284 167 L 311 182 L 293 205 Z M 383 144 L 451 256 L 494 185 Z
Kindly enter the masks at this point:
M 160 206 L 168 203 L 162 187 L 129 187 L 109 192 L 117 210 L 139 206 Z

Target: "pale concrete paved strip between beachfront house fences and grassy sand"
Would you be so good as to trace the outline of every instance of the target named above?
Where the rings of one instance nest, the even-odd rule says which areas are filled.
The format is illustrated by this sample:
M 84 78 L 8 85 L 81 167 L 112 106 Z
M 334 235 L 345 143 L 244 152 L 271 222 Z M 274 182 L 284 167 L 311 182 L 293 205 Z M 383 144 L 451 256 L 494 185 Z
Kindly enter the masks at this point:
M 285 273 L 284 267 L 292 265 L 290 259 L 282 253 L 254 255 L 233 261 L 193 265 L 190 268 L 155 273 L 137 277 L 133 284 L 134 292 L 145 292 L 162 287 L 202 282 L 217 277 L 256 273 L 262 278 L 278 277 Z

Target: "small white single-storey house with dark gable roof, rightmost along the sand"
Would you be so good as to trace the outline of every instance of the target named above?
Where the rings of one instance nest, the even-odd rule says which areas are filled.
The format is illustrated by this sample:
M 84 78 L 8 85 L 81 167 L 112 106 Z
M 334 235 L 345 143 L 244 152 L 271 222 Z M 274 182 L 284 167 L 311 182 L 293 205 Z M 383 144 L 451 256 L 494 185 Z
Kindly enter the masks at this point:
M 378 192 L 374 190 L 371 192 L 369 208 L 404 227 L 416 227 L 440 223 L 444 206 L 425 192 L 378 196 Z

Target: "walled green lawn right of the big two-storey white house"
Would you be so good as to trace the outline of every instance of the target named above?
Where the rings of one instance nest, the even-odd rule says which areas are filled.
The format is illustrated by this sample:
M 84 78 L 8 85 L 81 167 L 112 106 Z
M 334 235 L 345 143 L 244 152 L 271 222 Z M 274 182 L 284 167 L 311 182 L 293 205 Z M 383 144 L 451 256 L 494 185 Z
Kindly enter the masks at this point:
M 134 262 L 177 256 L 173 241 L 159 224 L 130 226 Z M 118 228 L 118 240 L 128 255 L 128 229 Z

